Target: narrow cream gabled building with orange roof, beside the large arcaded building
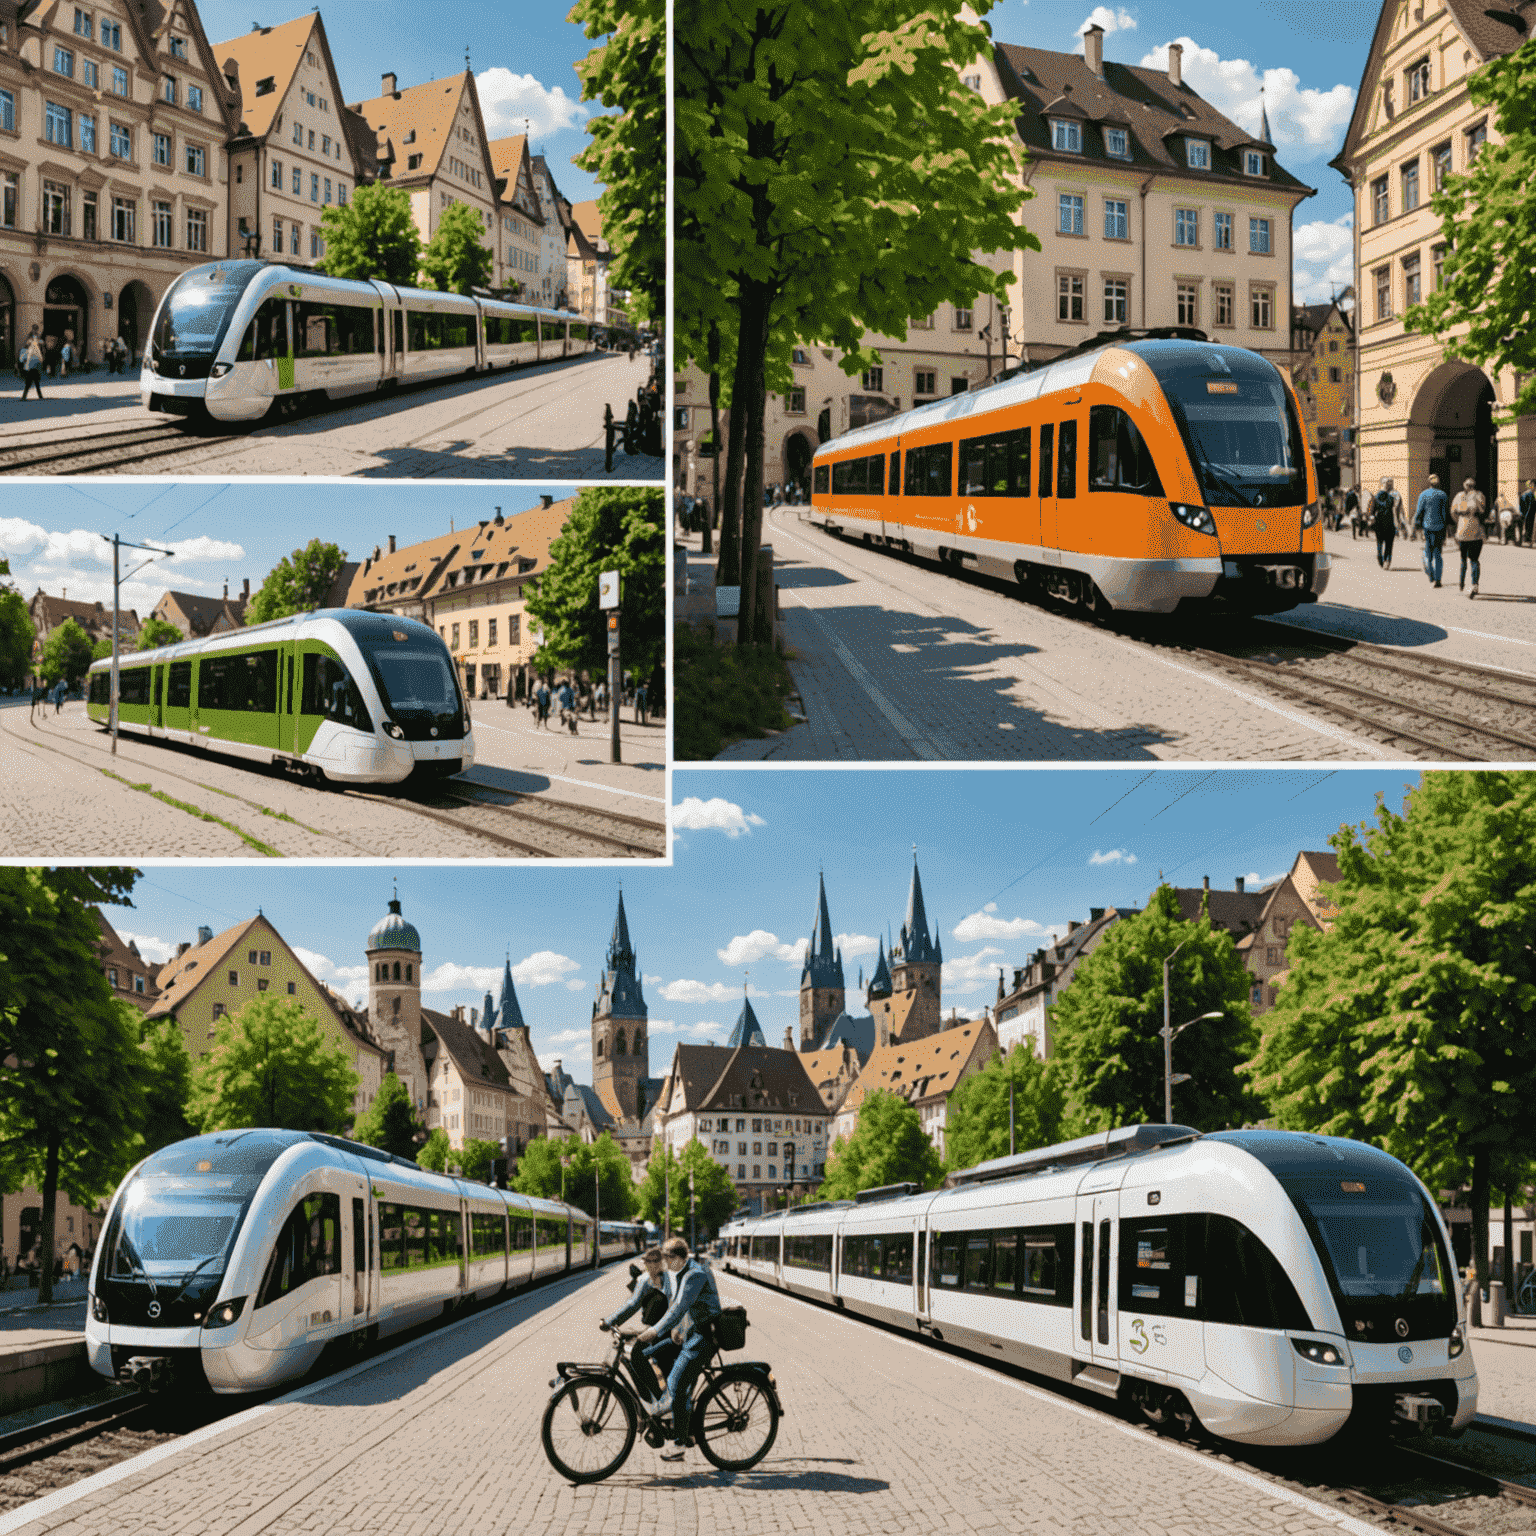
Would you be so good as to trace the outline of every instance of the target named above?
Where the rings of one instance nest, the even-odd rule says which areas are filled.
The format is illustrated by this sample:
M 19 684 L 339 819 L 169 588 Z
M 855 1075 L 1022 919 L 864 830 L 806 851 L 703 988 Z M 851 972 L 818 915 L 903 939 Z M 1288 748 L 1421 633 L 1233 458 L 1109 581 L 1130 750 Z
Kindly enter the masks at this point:
M 359 181 L 319 12 L 253 28 L 214 52 L 240 89 L 240 131 L 229 146 L 229 249 L 301 266 L 319 261 L 321 215 L 346 207 Z

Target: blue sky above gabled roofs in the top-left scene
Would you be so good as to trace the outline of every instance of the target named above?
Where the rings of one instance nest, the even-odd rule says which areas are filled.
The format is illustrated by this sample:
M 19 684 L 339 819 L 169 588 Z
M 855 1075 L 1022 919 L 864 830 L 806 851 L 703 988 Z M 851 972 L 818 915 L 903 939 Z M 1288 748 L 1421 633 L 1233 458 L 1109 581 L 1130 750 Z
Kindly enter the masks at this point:
M 215 45 L 249 32 L 253 22 L 280 26 L 306 6 L 252 9 L 246 0 L 200 0 L 203 31 Z M 439 0 L 436 5 L 378 5 L 376 0 L 327 0 L 319 8 L 326 37 L 341 75 L 346 101 L 379 94 L 393 71 L 399 84 L 441 80 L 464 69 L 464 49 L 492 138 L 521 134 L 531 123 L 531 151 L 547 157 L 554 183 L 573 203 L 598 197 L 585 170 L 570 164 L 587 144 L 584 124 L 602 103 L 582 103 L 574 65 L 593 41 L 567 22 L 568 0 L 531 0 L 516 8 Z

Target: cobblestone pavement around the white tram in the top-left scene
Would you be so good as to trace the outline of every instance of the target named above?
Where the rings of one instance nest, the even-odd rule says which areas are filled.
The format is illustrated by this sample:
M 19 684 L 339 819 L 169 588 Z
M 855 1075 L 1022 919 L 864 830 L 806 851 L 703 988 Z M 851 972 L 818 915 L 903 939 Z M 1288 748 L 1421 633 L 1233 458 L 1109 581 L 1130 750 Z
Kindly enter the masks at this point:
M 650 376 L 644 358 L 617 353 L 547 362 L 515 373 L 452 379 L 333 406 L 232 442 L 197 444 L 147 459 L 147 475 L 355 475 L 382 479 L 660 481 L 664 462 L 614 453 L 604 468 L 604 406 L 624 421 Z M 46 389 L 46 382 L 45 382 Z M 38 407 L 0 392 L 0 455 L 123 427 L 164 425 L 138 404 L 138 379 L 63 381 Z M 68 473 L 68 467 L 66 467 Z

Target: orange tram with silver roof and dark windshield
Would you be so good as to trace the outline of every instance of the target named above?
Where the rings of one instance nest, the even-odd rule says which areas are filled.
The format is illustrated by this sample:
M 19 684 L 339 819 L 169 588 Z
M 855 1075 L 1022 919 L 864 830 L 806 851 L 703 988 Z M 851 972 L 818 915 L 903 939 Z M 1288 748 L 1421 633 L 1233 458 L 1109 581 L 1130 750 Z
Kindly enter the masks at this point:
M 809 521 L 1095 613 L 1278 613 L 1327 587 L 1321 510 L 1279 369 L 1170 330 L 823 444 Z

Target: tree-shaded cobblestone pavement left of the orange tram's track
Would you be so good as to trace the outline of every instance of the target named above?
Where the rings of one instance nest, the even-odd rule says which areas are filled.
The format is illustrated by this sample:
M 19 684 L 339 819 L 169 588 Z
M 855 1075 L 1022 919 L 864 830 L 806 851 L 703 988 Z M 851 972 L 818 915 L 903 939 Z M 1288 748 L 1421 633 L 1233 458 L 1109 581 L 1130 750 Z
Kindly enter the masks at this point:
M 765 538 L 808 722 L 717 760 L 1395 756 L 1203 664 L 834 539 L 788 508 Z

